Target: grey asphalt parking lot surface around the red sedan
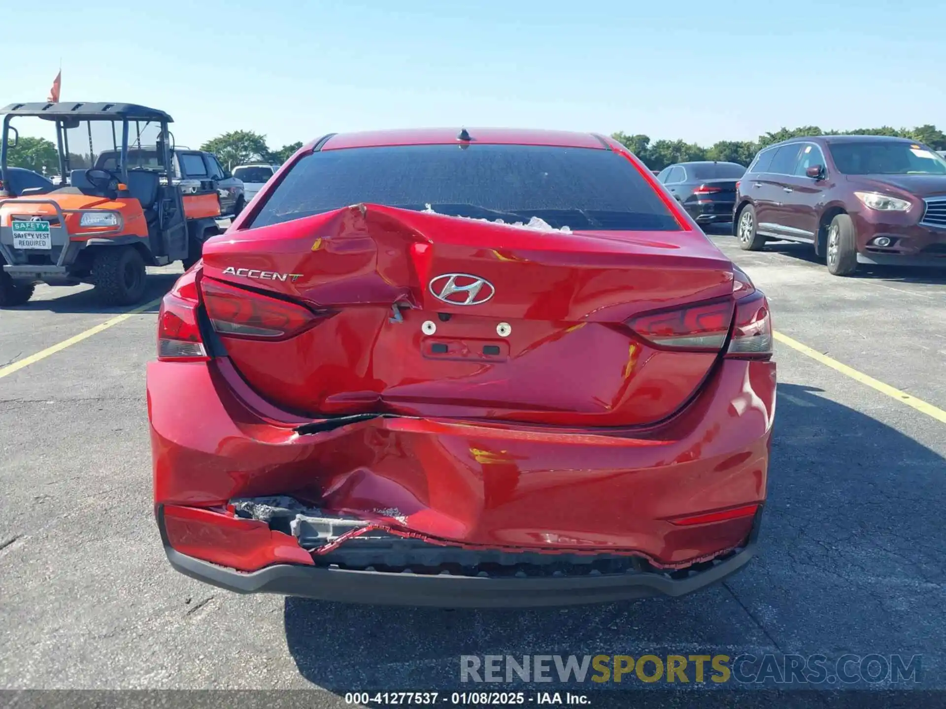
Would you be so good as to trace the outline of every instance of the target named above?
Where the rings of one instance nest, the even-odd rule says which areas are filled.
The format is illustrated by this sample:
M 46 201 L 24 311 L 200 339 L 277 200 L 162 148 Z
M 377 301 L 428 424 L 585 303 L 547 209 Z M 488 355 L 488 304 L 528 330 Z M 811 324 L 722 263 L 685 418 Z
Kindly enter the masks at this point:
M 447 690 L 468 653 L 709 650 L 919 654 L 922 686 L 946 688 L 946 273 L 841 279 L 801 245 L 713 238 L 783 336 L 850 371 L 777 344 L 768 508 L 744 573 L 682 599 L 569 610 L 240 597 L 172 571 L 150 504 L 157 307 L 3 375 L 121 312 L 87 286 L 39 287 L 0 312 L 0 686 Z M 155 269 L 149 300 L 179 272 Z

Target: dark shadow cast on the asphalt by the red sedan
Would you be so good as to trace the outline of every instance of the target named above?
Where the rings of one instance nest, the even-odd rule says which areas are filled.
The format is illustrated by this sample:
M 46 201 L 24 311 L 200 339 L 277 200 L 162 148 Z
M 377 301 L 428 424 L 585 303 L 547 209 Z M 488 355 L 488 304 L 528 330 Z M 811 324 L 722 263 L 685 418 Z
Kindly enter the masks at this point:
M 924 668 L 941 666 L 946 461 L 820 389 L 783 384 L 779 394 L 760 549 L 745 572 L 689 597 L 568 609 L 447 611 L 289 597 L 286 638 L 299 672 L 342 693 L 483 689 L 460 684 L 464 654 L 899 652 L 923 655 Z

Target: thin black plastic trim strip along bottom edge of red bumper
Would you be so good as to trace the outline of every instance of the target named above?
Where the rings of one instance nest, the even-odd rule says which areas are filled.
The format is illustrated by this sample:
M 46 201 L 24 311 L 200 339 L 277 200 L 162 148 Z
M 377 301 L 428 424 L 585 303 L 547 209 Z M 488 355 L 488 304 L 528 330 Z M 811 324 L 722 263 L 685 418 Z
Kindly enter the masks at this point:
M 755 553 L 755 542 L 685 579 L 628 573 L 565 579 L 489 579 L 276 564 L 242 573 L 165 546 L 167 560 L 192 579 L 240 594 L 269 593 L 377 605 L 441 608 L 534 607 L 606 603 L 650 596 L 678 597 L 725 579 Z

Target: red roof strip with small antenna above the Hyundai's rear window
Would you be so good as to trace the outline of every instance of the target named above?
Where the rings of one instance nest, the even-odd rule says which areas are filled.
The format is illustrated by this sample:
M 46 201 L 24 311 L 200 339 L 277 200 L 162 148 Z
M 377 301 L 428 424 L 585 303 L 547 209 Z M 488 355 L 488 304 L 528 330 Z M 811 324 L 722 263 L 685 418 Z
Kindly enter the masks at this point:
M 394 147 L 459 145 L 464 143 L 458 136 L 460 128 L 433 128 L 407 130 L 369 130 L 353 133 L 336 133 L 323 144 L 323 150 L 340 150 L 346 147 Z M 509 146 L 591 147 L 609 150 L 604 138 L 593 133 L 568 130 L 525 130 L 497 128 L 465 129 L 470 143 Z

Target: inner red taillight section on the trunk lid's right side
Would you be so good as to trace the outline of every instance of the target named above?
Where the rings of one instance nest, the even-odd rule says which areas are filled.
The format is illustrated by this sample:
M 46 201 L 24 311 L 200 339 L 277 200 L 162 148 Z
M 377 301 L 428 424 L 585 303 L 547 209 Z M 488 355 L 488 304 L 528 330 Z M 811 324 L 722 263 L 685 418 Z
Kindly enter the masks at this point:
M 733 302 L 701 303 L 677 310 L 645 313 L 628 321 L 640 337 L 674 350 L 719 352 L 729 334 Z

